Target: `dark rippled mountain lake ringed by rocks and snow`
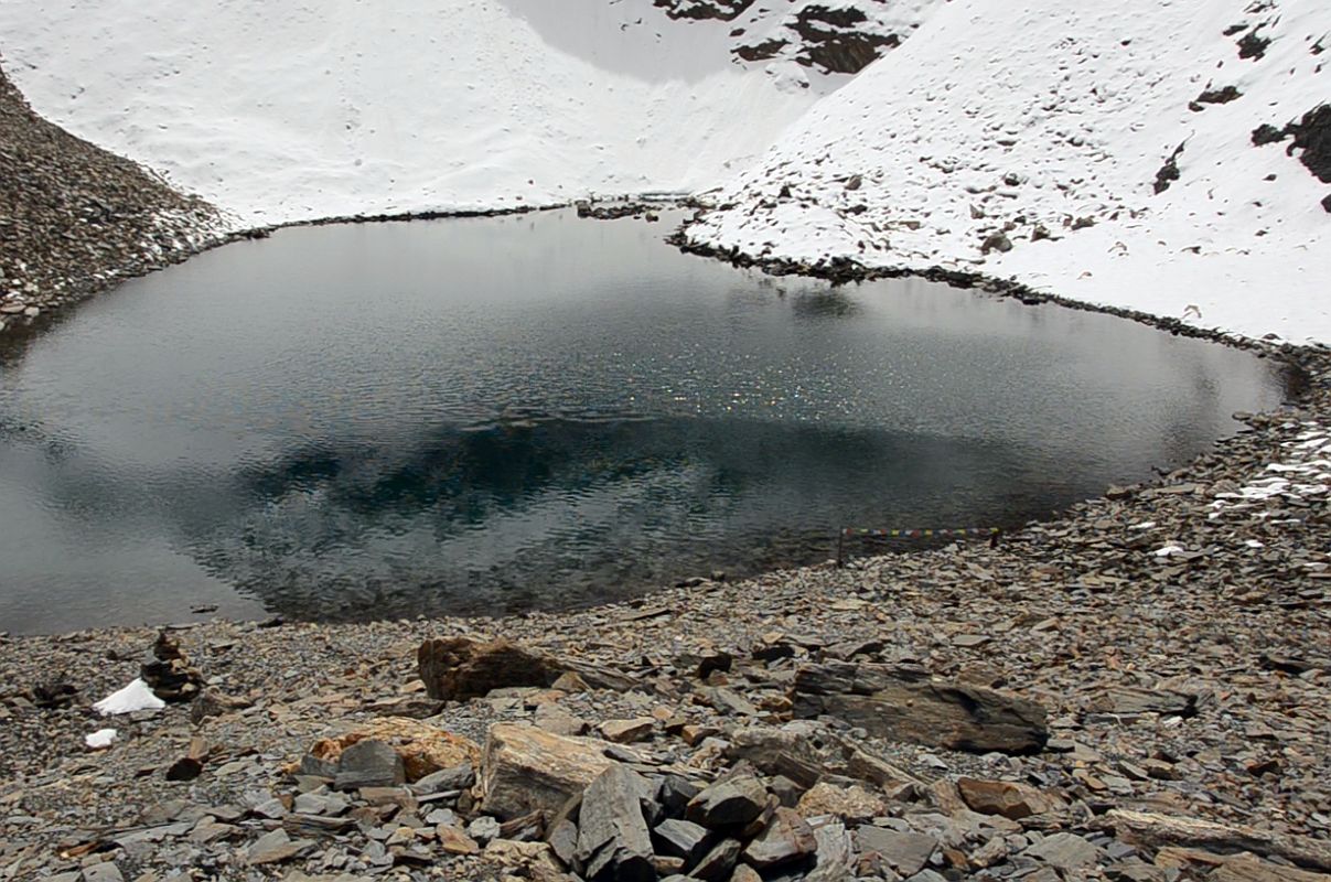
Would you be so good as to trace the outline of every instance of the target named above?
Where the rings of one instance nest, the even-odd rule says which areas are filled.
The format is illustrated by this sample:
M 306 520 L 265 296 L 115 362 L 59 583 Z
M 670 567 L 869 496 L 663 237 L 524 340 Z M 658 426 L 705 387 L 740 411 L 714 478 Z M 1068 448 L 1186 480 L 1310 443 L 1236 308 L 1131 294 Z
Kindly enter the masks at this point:
M 1021 523 L 1280 400 L 1244 353 L 570 213 L 291 229 L 0 349 L 0 631 L 582 604 Z

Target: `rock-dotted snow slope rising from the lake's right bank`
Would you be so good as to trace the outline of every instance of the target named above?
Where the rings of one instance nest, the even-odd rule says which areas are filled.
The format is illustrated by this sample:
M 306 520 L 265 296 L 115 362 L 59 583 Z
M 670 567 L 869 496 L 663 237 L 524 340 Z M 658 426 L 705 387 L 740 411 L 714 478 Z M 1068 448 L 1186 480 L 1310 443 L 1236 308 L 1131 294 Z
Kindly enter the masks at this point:
M 1323 0 L 953 0 L 716 193 L 729 208 L 691 235 L 1331 341 L 1331 186 L 1290 140 L 1252 144 L 1331 102 L 1328 33 Z

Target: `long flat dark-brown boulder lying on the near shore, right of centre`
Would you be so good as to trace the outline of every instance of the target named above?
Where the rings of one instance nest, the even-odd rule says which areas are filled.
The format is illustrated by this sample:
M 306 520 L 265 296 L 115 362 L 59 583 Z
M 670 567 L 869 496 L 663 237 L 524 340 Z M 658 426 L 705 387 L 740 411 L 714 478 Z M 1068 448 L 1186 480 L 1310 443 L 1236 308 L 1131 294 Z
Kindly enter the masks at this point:
M 804 665 L 795 674 L 795 713 L 840 717 L 878 738 L 974 753 L 1038 753 L 1049 740 L 1045 709 L 1034 701 L 913 666 Z

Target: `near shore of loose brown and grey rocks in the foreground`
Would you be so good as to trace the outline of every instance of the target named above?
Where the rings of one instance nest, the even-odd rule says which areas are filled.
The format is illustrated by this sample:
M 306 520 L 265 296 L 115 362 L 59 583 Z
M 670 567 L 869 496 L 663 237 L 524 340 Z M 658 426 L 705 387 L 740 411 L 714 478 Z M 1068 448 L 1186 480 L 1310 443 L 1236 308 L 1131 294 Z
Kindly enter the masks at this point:
M 1328 878 L 1304 361 L 1299 408 L 997 548 L 570 613 L 7 639 L 0 878 Z

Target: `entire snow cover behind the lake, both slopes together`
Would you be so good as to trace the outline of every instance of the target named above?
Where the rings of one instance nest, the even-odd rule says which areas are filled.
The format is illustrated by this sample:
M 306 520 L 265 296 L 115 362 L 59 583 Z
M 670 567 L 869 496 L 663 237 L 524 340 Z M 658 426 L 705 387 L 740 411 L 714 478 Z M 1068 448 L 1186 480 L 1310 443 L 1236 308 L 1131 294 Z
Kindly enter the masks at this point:
M 1288 128 L 1328 32 L 1324 0 L 0 3 L 39 112 L 240 223 L 721 184 L 699 242 L 1294 341 L 1331 341 L 1299 162 L 1331 132 Z

